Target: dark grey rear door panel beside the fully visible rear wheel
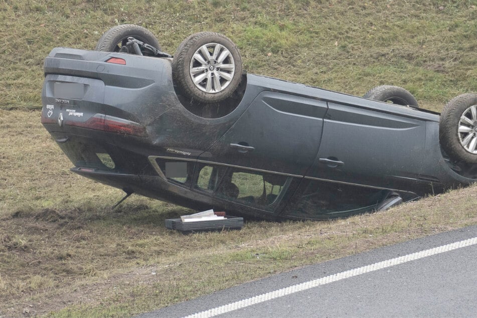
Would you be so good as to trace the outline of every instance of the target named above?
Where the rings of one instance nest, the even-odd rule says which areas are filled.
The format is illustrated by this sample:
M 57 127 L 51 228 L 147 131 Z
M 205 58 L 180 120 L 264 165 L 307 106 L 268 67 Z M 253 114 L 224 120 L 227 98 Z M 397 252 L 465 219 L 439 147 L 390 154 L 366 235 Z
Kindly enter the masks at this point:
M 199 161 L 303 176 L 320 146 L 327 103 L 263 91 Z

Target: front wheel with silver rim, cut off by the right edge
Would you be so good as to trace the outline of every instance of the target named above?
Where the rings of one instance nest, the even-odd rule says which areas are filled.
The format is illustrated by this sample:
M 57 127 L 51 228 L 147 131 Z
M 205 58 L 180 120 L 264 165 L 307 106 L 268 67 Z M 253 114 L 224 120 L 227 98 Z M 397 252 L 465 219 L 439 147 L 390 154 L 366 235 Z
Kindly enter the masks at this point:
M 477 164 L 477 94 L 459 95 L 444 106 L 439 141 L 453 160 Z

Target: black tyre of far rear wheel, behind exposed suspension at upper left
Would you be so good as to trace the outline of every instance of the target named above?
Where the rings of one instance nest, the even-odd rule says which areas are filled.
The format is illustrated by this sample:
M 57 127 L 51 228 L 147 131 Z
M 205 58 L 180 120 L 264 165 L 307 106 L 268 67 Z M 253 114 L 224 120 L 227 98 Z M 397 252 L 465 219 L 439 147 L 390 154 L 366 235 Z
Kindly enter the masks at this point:
M 95 50 L 103 52 L 119 52 L 121 47 L 125 46 L 127 38 L 129 37 L 133 37 L 136 40 L 153 46 L 157 50 L 161 50 L 159 42 L 150 31 L 133 24 L 122 24 L 103 33 L 96 44 Z

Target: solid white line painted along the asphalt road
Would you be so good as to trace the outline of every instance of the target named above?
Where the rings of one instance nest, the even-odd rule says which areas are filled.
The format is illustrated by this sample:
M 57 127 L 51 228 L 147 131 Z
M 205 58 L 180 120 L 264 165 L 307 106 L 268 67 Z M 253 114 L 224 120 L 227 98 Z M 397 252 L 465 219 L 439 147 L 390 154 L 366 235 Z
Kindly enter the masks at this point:
M 396 257 L 396 258 L 392 258 L 392 259 L 389 259 L 389 260 L 386 260 L 386 261 L 382 261 L 382 262 L 374 263 L 374 264 L 371 264 L 371 265 L 366 265 L 366 266 L 363 266 L 363 267 L 347 270 L 347 271 L 344 271 L 344 272 L 341 272 L 341 273 L 338 273 L 338 274 L 333 274 L 333 275 L 329 275 L 329 276 L 326 276 L 326 277 L 317 278 L 317 279 L 310 280 L 310 281 L 307 281 L 307 282 L 304 282 L 304 283 L 301 283 L 301 284 L 296 284 L 296 285 L 292 285 L 292 286 L 289 286 L 289 287 L 277 289 L 277 290 L 270 291 L 270 292 L 267 292 L 267 293 L 264 293 L 264 294 L 261 294 L 261 295 L 257 295 L 257 296 L 250 297 L 250 298 L 247 298 L 247 299 L 242 299 L 242 300 L 239 300 L 239 301 L 235 301 L 235 302 L 232 302 L 232 303 L 220 306 L 220 307 L 216 307 L 216 308 L 212 308 L 212 309 L 209 309 L 209 310 L 197 312 L 197 313 L 191 314 L 191 315 L 189 315 L 185 318 L 208 318 L 208 317 L 213 317 L 213 316 L 216 316 L 216 315 L 219 315 L 219 314 L 223 314 L 223 313 L 230 312 L 230 311 L 233 311 L 233 310 L 237 310 L 237 309 L 240 309 L 240 308 L 248 307 L 248 306 L 260 303 L 260 302 L 265 302 L 267 300 L 275 299 L 275 298 L 278 298 L 278 297 L 283 297 L 283 296 L 286 296 L 286 295 L 289 295 L 289 294 L 292 294 L 292 293 L 295 293 L 295 292 L 298 292 L 298 291 L 303 291 L 303 290 L 310 289 L 310 288 L 313 288 L 313 287 L 316 287 L 316 286 L 329 284 L 329 283 L 334 282 L 334 281 L 342 280 L 342 279 L 353 277 L 353 276 L 358 276 L 358 275 L 373 272 L 373 271 L 376 271 L 376 270 L 379 270 L 379 269 L 391 267 L 391 266 L 398 265 L 398 264 L 403 264 L 403 263 L 410 262 L 410 261 L 413 261 L 413 260 L 416 260 L 416 259 L 420 259 L 420 258 L 424 258 L 424 257 L 428 257 L 428 256 L 448 252 L 448 251 L 451 251 L 451 250 L 455 250 L 455 249 L 458 249 L 458 248 L 462 248 L 462 247 L 466 247 L 466 246 L 470 246 L 470 245 L 475 245 L 475 244 L 477 244 L 477 237 L 467 239 L 467 240 L 463 240 L 463 241 L 460 241 L 460 242 L 447 244 L 447 245 L 442 245 L 442 246 L 439 246 L 439 247 L 430 248 L 430 249 L 427 249 L 427 250 L 424 250 L 424 251 L 420 251 L 420 252 L 416 252 L 416 253 L 412 253 L 412 254 Z

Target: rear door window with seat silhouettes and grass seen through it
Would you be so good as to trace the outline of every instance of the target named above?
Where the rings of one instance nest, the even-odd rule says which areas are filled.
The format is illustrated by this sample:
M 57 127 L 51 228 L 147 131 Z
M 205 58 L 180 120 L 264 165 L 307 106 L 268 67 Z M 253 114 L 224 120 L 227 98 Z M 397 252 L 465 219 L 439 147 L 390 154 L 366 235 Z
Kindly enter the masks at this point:
M 272 206 L 287 184 L 280 175 L 229 169 L 217 189 L 224 196 L 247 205 Z

